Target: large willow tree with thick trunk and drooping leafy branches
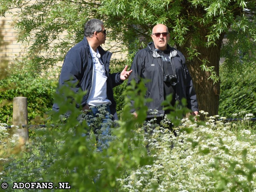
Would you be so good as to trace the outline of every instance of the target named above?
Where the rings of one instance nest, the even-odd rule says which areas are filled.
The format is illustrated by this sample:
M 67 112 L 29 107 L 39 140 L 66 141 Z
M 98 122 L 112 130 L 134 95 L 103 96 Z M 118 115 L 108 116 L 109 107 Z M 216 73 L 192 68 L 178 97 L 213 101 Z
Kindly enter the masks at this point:
M 199 108 L 218 114 L 219 61 L 236 76 L 255 65 L 255 0 L 0 0 L 1 14 L 20 8 L 16 27 L 20 41 L 30 43 L 26 63 L 46 69 L 63 60 L 83 37 L 83 24 L 99 18 L 112 41 L 122 42 L 130 64 L 135 52 L 145 47 L 157 23 L 167 25 L 170 45 L 187 59 Z M 63 39 L 60 36 L 65 34 Z M 227 38 L 227 44 L 223 39 Z M 45 55 L 41 54 L 44 52 Z M 36 54 L 35 54 L 36 53 Z

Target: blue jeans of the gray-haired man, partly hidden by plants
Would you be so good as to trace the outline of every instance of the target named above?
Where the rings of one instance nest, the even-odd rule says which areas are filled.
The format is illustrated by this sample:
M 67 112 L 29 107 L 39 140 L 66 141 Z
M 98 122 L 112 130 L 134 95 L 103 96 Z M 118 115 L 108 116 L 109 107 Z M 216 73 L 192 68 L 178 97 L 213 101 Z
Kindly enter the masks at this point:
M 109 105 L 106 107 L 105 105 L 91 106 L 88 115 L 93 117 L 87 123 L 95 134 L 98 142 L 97 148 L 100 150 L 102 147 L 107 148 L 111 140 L 111 125 L 113 124 Z

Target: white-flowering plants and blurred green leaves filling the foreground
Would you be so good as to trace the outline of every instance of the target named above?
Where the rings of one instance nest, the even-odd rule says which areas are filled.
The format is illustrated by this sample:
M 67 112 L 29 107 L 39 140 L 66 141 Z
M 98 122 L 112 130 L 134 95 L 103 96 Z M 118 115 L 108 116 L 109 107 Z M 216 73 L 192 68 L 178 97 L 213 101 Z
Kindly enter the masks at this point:
M 75 100 L 71 111 L 77 115 Z M 69 101 L 62 103 L 69 105 Z M 71 191 L 253 191 L 256 187 L 255 130 L 246 122 L 232 132 L 234 123 L 225 123 L 225 118 L 216 121 L 219 116 L 208 117 L 200 111 L 205 123 L 182 119 L 173 128 L 174 136 L 164 128 L 172 119 L 165 116 L 160 125 L 154 121 L 140 124 L 129 110 L 124 107 L 127 119 L 112 127 L 111 142 L 102 150 L 97 149 L 92 131 L 84 129 L 86 118 L 80 115 L 86 113 L 79 118 L 71 115 L 66 124 L 54 128 L 37 129 L 25 146 L 15 136 L 5 140 L 8 134 L 0 124 L 0 139 L 5 141 L 0 142 L 0 179 L 9 184 L 5 191 L 12 191 L 12 183 L 19 181 L 52 182 L 53 186 L 65 181 Z

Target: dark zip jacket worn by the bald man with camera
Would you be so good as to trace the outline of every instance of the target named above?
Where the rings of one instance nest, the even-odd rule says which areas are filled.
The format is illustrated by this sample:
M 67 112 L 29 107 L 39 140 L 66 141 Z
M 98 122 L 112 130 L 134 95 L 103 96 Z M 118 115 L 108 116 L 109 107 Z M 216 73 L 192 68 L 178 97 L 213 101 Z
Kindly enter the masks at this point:
M 174 64 L 178 79 L 178 83 L 175 86 L 175 99 L 180 101 L 182 98 L 185 98 L 188 103 L 187 107 L 192 111 L 198 111 L 196 92 L 194 91 L 192 78 L 185 64 L 185 57 L 179 50 L 169 45 L 167 46 L 170 49 L 171 62 Z M 146 97 L 153 99 L 153 101 L 146 103 L 146 106 L 148 109 L 158 110 L 156 116 L 164 114 L 163 106 L 161 105 L 164 101 L 164 74 L 160 65 L 163 68 L 163 60 L 155 51 L 154 44 L 151 42 L 145 49 L 136 53 L 131 67 L 132 74 L 128 79 L 128 84 L 130 84 L 132 79 L 139 83 L 140 77 L 150 80 L 146 83 L 148 89 Z M 153 116 L 155 115 L 148 114 L 148 117 Z

